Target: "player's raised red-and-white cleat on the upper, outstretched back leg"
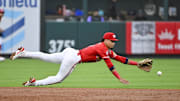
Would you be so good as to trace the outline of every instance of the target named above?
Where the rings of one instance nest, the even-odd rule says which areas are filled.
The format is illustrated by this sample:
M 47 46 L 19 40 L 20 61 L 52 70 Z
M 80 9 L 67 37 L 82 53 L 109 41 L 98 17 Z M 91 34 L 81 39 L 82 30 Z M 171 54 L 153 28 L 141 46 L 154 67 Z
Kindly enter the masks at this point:
M 18 50 L 16 50 L 14 53 L 11 54 L 10 59 L 14 60 L 18 58 L 19 56 L 22 56 L 24 54 L 24 48 L 20 47 Z

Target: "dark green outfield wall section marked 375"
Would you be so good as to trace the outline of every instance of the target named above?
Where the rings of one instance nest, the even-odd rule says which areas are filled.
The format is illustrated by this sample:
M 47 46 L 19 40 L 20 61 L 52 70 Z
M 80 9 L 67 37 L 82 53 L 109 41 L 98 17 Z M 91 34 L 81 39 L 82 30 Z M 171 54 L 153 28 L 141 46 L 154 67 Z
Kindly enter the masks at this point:
M 120 41 L 115 50 L 125 54 L 125 24 L 122 23 L 58 23 L 46 22 L 45 45 L 43 51 L 54 53 L 60 52 L 64 48 L 73 47 L 84 48 L 88 45 L 101 41 L 104 32 L 112 31 L 117 33 Z

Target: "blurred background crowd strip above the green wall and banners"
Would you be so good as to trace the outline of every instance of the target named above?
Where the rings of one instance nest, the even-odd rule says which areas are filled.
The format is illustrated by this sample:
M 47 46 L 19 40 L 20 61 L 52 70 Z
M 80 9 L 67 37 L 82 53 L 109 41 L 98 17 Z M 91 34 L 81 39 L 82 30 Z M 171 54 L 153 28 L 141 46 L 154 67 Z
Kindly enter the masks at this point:
M 101 2 L 97 2 L 93 8 L 88 8 L 87 12 L 84 12 L 81 6 L 72 8 L 66 3 L 57 4 L 54 10 L 46 9 L 46 18 L 55 19 L 57 21 L 100 21 L 100 22 L 120 22 L 120 21 L 145 21 L 145 20 L 165 20 L 165 8 L 163 7 L 163 0 L 139 0 L 137 4 L 128 3 L 126 0 L 106 0 L 102 6 Z M 60 1 L 59 1 L 60 2 Z M 90 0 L 89 0 L 90 2 Z M 95 1 L 92 1 L 95 2 Z M 98 6 L 99 3 L 99 6 Z M 134 7 L 124 7 L 124 5 L 131 4 Z M 141 3 L 141 4 L 139 4 Z M 179 19 L 177 4 L 179 1 L 169 1 L 168 3 L 168 20 L 177 21 Z M 100 6 L 101 4 L 101 6 Z M 122 6 L 121 6 L 122 5 Z M 139 7 L 140 6 L 140 7 Z M 104 7 L 104 8 L 103 8 Z M 85 14 L 87 13 L 87 14 Z

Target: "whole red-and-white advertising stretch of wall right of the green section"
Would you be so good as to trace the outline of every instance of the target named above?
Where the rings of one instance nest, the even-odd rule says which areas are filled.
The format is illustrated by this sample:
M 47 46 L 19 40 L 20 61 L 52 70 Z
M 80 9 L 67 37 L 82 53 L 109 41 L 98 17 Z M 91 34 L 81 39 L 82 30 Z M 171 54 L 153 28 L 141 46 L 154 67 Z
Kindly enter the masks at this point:
M 127 54 L 180 54 L 180 22 L 127 22 Z

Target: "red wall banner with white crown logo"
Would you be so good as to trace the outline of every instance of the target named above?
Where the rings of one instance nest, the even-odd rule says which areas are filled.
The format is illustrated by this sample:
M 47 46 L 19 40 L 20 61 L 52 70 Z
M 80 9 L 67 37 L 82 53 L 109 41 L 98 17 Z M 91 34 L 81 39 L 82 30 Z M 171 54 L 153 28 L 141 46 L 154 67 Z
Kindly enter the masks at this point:
M 156 22 L 156 54 L 174 53 L 175 30 L 175 22 Z

